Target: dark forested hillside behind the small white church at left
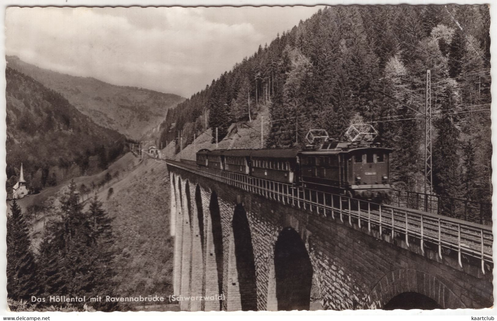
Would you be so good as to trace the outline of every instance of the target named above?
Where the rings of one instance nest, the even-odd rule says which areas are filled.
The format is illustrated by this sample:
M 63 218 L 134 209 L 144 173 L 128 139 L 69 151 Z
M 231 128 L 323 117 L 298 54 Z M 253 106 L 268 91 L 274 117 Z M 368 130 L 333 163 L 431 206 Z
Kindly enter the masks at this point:
M 59 93 L 9 67 L 5 76 L 7 192 L 21 162 L 28 189 L 36 192 L 95 174 L 125 151 L 123 134 L 96 125 Z

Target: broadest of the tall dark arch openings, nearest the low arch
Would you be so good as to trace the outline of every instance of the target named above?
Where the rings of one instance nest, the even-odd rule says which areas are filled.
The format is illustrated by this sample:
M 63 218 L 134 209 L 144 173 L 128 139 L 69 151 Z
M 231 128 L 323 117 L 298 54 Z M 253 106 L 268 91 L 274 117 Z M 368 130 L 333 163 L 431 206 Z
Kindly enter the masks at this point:
M 274 274 L 278 311 L 309 310 L 313 267 L 300 235 L 290 227 L 276 240 Z

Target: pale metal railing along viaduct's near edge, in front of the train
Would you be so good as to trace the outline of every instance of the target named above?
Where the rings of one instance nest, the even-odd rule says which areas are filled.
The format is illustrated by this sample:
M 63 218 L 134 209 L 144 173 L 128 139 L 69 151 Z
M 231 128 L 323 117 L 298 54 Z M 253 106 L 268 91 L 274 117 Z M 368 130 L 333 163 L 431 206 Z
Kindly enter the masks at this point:
M 309 210 L 317 215 L 331 216 L 333 219 L 339 218 L 341 222 L 348 221 L 350 225 L 356 223 L 359 227 L 367 227 L 368 231 L 375 230 L 380 235 L 401 237 L 407 246 L 411 242 L 416 242 L 423 252 L 425 248 L 434 246 L 440 258 L 442 255 L 456 251 L 461 267 L 462 255 L 480 260 L 483 273 L 485 273 L 485 263 L 493 264 L 494 237 L 489 226 L 429 212 L 414 212 L 392 205 L 357 200 L 344 195 L 320 192 L 244 174 L 200 168 L 170 160 L 167 162 L 285 205 Z

